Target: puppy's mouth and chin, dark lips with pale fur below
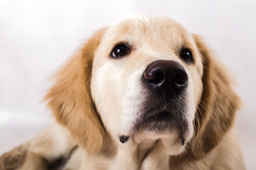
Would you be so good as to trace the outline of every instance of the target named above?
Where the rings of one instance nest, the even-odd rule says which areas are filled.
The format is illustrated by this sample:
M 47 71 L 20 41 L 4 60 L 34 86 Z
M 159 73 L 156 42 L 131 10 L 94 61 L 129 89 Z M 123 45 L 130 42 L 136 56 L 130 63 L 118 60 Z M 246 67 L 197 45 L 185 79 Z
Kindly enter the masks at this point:
M 143 114 L 134 122 L 129 136 L 137 143 L 161 142 L 166 154 L 179 154 L 185 148 L 188 123 L 173 115 L 167 111 Z

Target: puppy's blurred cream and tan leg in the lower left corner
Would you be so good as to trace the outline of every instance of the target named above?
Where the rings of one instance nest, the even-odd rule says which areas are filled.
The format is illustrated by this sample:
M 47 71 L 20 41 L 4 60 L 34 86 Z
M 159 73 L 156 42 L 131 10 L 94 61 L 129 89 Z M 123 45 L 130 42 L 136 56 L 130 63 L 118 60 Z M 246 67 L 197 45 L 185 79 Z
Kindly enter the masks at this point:
M 0 157 L 2 170 L 46 170 L 60 158 L 68 158 L 75 147 L 70 132 L 55 121 L 30 142 Z

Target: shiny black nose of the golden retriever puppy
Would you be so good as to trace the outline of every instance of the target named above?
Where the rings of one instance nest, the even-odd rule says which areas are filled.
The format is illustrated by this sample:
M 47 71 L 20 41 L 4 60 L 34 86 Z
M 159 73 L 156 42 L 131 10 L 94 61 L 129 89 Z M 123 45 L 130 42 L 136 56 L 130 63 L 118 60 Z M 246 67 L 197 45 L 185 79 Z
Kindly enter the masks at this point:
M 178 62 L 158 60 L 149 64 L 144 72 L 144 83 L 157 94 L 175 97 L 188 85 L 188 74 Z

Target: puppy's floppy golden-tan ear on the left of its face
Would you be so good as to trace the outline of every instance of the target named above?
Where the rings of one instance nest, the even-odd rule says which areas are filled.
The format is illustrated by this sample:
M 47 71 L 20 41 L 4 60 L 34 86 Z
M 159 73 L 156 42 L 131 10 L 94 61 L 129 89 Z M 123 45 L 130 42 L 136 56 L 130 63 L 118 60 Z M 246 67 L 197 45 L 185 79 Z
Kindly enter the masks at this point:
M 92 60 L 104 32 L 105 28 L 98 30 L 55 74 L 55 84 L 46 95 L 57 122 L 88 152 L 100 150 L 105 134 L 90 91 Z

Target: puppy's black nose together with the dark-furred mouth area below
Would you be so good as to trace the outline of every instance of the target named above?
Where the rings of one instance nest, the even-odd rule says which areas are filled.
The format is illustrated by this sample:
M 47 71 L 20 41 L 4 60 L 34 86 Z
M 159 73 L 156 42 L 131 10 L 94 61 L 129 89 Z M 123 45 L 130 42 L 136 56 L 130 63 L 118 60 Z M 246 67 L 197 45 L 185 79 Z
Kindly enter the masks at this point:
M 183 66 L 171 60 L 152 62 L 142 74 L 141 83 L 144 86 L 144 101 L 130 135 L 139 130 L 161 133 L 176 128 L 184 144 L 184 135 L 188 130 L 188 74 Z M 122 143 L 128 139 L 125 135 L 119 137 Z

